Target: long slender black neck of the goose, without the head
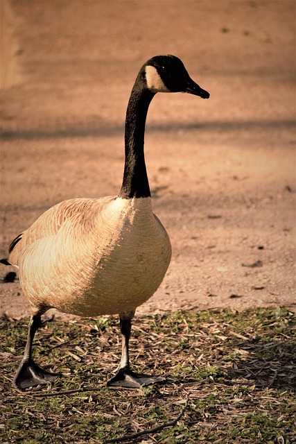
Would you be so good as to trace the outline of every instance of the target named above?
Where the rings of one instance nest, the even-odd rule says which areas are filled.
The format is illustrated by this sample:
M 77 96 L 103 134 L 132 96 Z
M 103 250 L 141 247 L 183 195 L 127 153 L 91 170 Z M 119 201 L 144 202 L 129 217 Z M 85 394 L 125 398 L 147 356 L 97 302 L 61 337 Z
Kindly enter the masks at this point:
M 139 74 L 126 111 L 125 164 L 119 193 L 121 198 L 150 197 L 144 157 L 144 133 L 148 107 L 154 95 L 147 89 Z

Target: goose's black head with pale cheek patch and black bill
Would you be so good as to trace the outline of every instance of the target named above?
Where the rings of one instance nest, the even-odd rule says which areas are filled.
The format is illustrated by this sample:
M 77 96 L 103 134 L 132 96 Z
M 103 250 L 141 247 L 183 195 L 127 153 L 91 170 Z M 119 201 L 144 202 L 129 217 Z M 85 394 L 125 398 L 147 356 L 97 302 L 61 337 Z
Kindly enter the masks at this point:
M 180 58 L 175 56 L 155 56 L 143 65 L 141 75 L 147 88 L 157 92 L 187 92 L 202 99 L 209 99 L 209 93 L 202 89 L 189 76 Z

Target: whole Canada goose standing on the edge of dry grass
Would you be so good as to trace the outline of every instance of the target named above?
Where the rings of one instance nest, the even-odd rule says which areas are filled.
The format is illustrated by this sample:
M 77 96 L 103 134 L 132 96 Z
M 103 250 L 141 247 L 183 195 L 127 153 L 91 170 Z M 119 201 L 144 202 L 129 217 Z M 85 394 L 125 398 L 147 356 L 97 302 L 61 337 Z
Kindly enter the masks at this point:
M 143 153 L 146 115 L 157 92 L 209 93 L 175 56 L 155 56 L 141 67 L 125 120 L 125 164 L 119 196 L 74 198 L 54 205 L 19 234 L 3 264 L 19 268 L 31 304 L 28 339 L 14 385 L 23 389 L 57 374 L 33 361 L 41 315 L 55 308 L 79 316 L 119 314 L 121 362 L 108 386 L 139 387 L 163 380 L 130 369 L 128 343 L 135 309 L 155 293 L 171 260 L 166 230 L 153 214 Z

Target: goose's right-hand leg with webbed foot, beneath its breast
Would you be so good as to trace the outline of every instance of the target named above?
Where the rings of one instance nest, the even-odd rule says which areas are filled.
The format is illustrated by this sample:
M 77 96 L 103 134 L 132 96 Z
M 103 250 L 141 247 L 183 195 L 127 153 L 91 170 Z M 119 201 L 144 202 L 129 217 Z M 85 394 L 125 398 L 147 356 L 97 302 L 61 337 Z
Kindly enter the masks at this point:
M 128 344 L 130 340 L 131 327 L 132 324 L 130 319 L 120 318 L 122 335 L 121 363 L 119 364 L 119 368 L 117 368 L 115 375 L 107 382 L 107 386 L 139 388 L 141 386 L 148 386 L 150 384 L 155 384 L 156 382 L 162 382 L 165 380 L 165 378 L 162 376 L 142 375 L 139 373 L 134 373 L 130 369 Z

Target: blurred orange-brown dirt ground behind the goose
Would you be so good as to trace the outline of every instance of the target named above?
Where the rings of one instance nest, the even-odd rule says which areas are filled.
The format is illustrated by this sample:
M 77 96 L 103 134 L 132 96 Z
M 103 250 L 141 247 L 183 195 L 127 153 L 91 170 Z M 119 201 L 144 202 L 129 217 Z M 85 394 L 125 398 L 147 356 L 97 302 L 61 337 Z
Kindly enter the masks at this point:
M 173 258 L 138 312 L 295 308 L 295 1 L 10 7 L 18 80 L 1 90 L 0 257 L 51 205 L 118 193 L 132 83 L 172 53 L 211 97 L 157 94 L 150 106 L 146 164 Z M 30 313 L 18 280 L 0 290 L 0 314 Z

